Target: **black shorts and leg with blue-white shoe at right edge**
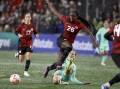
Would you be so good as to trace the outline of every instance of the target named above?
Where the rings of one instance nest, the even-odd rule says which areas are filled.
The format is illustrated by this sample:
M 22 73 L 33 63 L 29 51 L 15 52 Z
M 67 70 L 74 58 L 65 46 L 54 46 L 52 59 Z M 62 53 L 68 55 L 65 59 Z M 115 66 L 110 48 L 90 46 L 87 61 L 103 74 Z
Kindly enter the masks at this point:
M 112 54 L 112 59 L 115 62 L 116 66 L 120 68 L 120 54 Z M 116 74 L 109 82 L 103 84 L 101 89 L 109 89 L 115 83 L 120 82 L 120 73 Z

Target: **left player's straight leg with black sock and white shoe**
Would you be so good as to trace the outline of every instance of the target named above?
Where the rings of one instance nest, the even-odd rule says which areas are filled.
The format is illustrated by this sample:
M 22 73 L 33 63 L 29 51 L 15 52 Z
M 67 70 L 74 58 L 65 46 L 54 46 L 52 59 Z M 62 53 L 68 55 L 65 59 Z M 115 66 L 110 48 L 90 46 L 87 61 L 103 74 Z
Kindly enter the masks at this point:
M 25 69 L 24 69 L 24 76 L 29 77 L 30 74 L 28 73 L 30 64 L 31 64 L 31 59 L 32 59 L 32 50 L 31 48 L 26 48 L 26 53 L 25 53 L 25 58 L 26 58 L 26 62 L 25 62 Z

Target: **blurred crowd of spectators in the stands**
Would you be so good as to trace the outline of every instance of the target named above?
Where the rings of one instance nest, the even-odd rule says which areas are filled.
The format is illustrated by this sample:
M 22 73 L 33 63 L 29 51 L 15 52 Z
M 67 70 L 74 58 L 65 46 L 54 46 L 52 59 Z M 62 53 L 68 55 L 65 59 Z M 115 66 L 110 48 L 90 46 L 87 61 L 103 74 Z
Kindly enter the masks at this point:
M 86 16 L 83 14 L 86 13 L 86 9 L 83 9 L 82 6 L 86 5 L 84 1 L 87 0 L 51 1 L 60 13 L 69 15 L 71 12 L 77 11 L 82 17 L 94 24 L 96 29 L 102 26 L 103 19 L 107 18 L 114 22 L 120 17 L 119 4 L 112 5 L 109 11 L 98 8 L 95 10 L 97 14 Z M 33 24 L 38 32 L 53 34 L 63 31 L 63 24 L 50 12 L 45 0 L 0 0 L 0 32 L 14 32 L 26 11 L 32 13 Z

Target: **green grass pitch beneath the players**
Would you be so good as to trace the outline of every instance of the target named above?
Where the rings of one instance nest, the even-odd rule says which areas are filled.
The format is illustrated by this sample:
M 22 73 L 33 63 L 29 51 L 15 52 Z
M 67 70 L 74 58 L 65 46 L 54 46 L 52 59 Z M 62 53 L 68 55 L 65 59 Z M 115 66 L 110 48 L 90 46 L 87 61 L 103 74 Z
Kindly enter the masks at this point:
M 57 54 L 33 54 L 32 64 L 29 70 L 31 76 L 23 76 L 24 63 L 18 62 L 14 58 L 15 52 L 0 51 L 0 89 L 100 89 L 102 83 L 111 79 L 119 69 L 111 61 L 107 61 L 107 66 L 100 65 L 99 57 L 77 56 L 77 78 L 83 82 L 90 82 L 90 85 L 53 85 L 51 71 L 48 78 L 43 78 L 43 70 L 46 65 L 53 63 L 57 59 Z M 19 85 L 11 85 L 9 77 L 13 73 L 21 76 Z M 116 84 L 111 89 L 120 89 L 120 84 Z

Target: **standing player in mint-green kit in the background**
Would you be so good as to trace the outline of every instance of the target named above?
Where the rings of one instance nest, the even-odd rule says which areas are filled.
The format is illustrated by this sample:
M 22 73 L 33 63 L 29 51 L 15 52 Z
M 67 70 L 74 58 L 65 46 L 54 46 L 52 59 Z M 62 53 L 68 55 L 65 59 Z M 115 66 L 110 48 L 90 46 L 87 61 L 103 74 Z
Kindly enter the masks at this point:
M 104 20 L 103 27 L 101 27 L 96 34 L 96 41 L 99 45 L 97 48 L 98 54 L 101 56 L 101 65 L 106 65 L 106 60 L 108 59 L 109 42 L 104 38 L 105 33 L 109 30 L 109 22 Z

